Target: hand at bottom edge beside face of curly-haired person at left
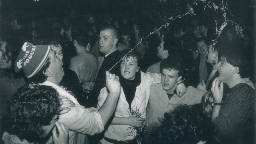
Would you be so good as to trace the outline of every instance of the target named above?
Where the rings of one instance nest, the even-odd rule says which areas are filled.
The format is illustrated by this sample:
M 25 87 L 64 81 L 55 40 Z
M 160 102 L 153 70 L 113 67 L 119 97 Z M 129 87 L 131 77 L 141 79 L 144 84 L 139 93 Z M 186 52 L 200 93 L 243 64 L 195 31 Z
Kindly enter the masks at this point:
M 55 122 L 55 126 L 57 128 L 54 127 L 53 129 L 53 142 L 55 144 L 68 144 L 69 143 L 68 127 L 63 123 L 58 123 L 58 121 Z M 57 134 L 57 129 L 59 134 Z

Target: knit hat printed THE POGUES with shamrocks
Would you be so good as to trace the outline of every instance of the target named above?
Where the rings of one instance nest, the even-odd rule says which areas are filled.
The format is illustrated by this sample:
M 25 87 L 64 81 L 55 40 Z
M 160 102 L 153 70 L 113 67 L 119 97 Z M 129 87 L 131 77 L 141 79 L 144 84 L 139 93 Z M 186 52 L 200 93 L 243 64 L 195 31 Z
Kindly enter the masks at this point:
M 23 69 L 26 77 L 37 74 L 47 60 L 51 47 L 48 45 L 33 45 L 24 43 L 15 60 L 15 72 Z

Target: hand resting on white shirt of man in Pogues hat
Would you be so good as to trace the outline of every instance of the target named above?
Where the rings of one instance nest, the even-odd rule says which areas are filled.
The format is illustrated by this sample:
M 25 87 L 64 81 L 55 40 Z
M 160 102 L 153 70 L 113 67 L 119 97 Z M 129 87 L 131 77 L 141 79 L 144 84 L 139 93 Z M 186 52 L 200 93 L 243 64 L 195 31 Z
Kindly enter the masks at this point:
M 59 96 L 59 98 L 61 99 L 60 107 L 59 107 L 59 115 L 62 115 L 62 114 L 65 114 L 65 113 L 71 111 L 71 109 L 68 107 L 75 106 L 75 103 L 73 103 L 71 100 L 67 99 L 66 97 Z M 66 108 L 68 108 L 68 109 L 66 109 Z

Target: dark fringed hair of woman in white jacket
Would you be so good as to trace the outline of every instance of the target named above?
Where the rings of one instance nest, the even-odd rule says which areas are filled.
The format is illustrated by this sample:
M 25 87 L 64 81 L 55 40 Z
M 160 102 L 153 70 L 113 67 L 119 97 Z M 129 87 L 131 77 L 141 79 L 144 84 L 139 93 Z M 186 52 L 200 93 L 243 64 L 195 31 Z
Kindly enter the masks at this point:
M 141 66 L 141 60 L 142 60 L 142 57 L 141 57 L 140 53 L 136 50 L 132 50 L 131 52 L 130 51 L 131 51 L 130 49 L 125 49 L 121 53 L 121 58 L 122 58 L 121 61 L 125 61 L 125 60 L 129 61 L 131 59 L 132 61 L 137 62 L 138 67 L 140 67 Z

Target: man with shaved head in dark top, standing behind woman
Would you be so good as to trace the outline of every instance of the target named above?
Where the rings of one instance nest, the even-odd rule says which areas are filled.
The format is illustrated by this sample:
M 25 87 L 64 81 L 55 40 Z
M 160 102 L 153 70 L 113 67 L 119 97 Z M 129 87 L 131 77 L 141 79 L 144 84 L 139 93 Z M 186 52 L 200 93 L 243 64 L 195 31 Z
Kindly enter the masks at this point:
M 98 57 L 98 75 L 93 89 L 93 97 L 99 96 L 100 90 L 105 87 L 105 71 L 109 71 L 120 60 L 120 53 L 117 50 L 119 34 L 115 27 L 106 26 L 100 31 L 99 47 L 104 57 Z M 120 69 L 117 64 L 110 73 L 118 75 Z

